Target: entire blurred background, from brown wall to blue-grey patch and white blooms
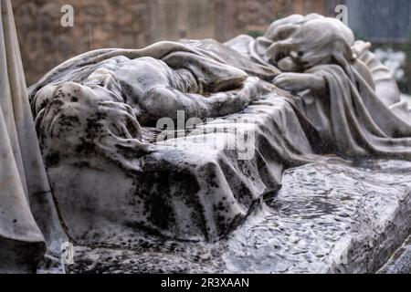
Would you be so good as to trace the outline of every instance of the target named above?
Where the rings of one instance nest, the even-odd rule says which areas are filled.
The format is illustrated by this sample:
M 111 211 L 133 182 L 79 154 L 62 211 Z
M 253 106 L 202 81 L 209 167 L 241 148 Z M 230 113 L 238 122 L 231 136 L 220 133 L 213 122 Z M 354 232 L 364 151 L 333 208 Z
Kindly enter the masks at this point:
M 312 12 L 337 16 L 373 43 L 375 54 L 411 93 L 411 0 L 13 0 L 27 85 L 50 68 L 91 49 L 145 47 L 159 40 L 239 34 L 261 36 L 272 21 Z M 62 5 L 74 7 L 74 26 L 63 27 Z M 313 40 L 315 41 L 315 40 Z

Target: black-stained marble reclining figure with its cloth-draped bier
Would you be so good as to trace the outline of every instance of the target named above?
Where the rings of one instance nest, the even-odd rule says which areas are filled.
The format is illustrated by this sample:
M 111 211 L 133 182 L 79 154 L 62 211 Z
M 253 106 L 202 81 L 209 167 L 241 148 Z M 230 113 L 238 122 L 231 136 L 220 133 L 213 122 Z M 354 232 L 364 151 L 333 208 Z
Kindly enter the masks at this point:
M 150 61 L 166 72 L 188 69 L 205 96 L 181 92 L 186 100 L 181 110 L 191 101 L 216 101 L 209 116 L 217 119 L 186 129 L 186 137 L 151 140 L 158 130 L 145 124 L 140 130 L 134 116 L 139 113 L 124 110 L 124 104 L 134 105 L 139 87 L 128 80 L 133 60 Z M 100 49 L 48 72 L 29 89 L 29 99 L 70 239 L 120 245 L 147 230 L 183 240 L 226 236 L 263 194 L 278 190 L 285 168 L 318 159 L 311 147 L 321 144 L 316 131 L 290 94 L 264 81 L 278 74 L 277 68 L 260 66 L 214 40 Z M 168 78 L 171 84 L 179 80 L 173 74 Z M 172 111 L 165 114 L 173 117 Z M 240 160 L 227 141 L 247 127 L 256 133 L 249 146 L 255 155 Z

